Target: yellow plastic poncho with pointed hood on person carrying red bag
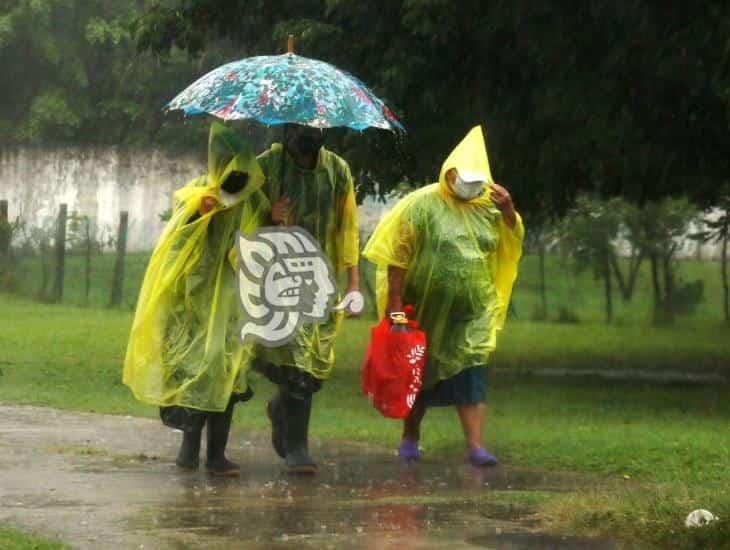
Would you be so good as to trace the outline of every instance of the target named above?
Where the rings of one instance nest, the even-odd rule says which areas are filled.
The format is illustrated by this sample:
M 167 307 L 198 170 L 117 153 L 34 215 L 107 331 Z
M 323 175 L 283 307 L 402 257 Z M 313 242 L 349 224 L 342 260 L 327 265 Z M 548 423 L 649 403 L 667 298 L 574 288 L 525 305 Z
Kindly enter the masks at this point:
M 513 229 L 489 198 L 453 195 L 446 172 L 480 172 L 492 182 L 481 127 L 441 167 L 439 182 L 411 193 L 378 224 L 363 255 L 377 264 L 378 311 L 388 297 L 388 266 L 406 270 L 403 303 L 413 304 L 428 338 L 424 389 L 485 365 L 504 325 L 524 227 Z

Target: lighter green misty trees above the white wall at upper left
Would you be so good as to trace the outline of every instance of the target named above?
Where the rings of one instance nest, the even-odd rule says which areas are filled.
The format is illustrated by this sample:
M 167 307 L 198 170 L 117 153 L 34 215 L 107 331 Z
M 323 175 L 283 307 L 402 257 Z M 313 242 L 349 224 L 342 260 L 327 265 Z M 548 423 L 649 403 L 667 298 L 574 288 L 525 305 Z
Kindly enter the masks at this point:
M 164 104 L 200 70 L 222 61 L 172 49 L 136 52 L 135 0 L 17 0 L 0 3 L 0 143 L 149 144 L 205 142 L 179 131 Z M 176 131 L 177 130 L 177 131 Z

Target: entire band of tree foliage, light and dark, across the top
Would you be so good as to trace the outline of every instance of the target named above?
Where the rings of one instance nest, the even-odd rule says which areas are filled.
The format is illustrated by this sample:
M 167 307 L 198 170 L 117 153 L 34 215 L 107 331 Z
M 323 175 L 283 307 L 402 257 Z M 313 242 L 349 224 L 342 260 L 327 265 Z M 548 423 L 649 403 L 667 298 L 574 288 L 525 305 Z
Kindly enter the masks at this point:
M 730 169 L 723 0 L 4 2 L 0 68 L 14 85 L 0 142 L 204 143 L 202 125 L 180 131 L 162 106 L 224 61 L 280 53 L 289 33 L 299 53 L 370 84 L 408 127 L 402 142 L 332 132 L 353 173 L 385 192 L 404 176 L 432 181 L 479 123 L 528 225 L 578 191 L 709 204 Z

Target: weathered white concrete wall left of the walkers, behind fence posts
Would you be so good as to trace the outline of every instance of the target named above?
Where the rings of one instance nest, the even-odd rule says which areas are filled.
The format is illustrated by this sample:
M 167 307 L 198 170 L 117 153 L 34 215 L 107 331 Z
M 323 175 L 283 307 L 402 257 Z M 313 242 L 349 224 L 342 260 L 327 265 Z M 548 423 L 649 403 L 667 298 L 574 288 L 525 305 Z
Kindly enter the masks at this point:
M 11 220 L 53 224 L 59 205 L 89 216 L 97 234 L 116 235 L 119 212 L 129 212 L 128 250 L 154 247 L 174 189 L 205 172 L 192 155 L 108 148 L 22 148 L 0 152 L 0 199 Z

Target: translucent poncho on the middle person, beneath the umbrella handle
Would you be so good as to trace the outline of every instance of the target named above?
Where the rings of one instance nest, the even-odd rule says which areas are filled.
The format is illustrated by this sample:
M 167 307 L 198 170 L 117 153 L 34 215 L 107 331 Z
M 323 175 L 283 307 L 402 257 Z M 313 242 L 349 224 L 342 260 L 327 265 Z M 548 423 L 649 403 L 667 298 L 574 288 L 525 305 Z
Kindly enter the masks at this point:
M 347 162 L 322 147 L 316 167 L 305 170 L 277 143 L 259 156 L 259 163 L 266 176 L 263 190 L 271 204 L 282 196 L 291 200 L 293 225 L 312 234 L 337 273 L 357 266 L 357 204 Z M 334 341 L 342 317 L 333 312 L 326 323 L 302 325 L 291 343 L 278 348 L 258 346 L 256 356 L 325 379 L 334 365 Z

